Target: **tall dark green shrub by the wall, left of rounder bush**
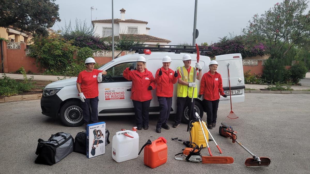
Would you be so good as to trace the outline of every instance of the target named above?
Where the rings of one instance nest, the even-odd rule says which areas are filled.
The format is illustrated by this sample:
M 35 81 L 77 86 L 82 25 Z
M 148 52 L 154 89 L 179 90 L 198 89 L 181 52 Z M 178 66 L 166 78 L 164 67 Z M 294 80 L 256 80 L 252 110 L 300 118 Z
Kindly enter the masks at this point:
M 263 76 L 265 82 L 274 84 L 276 82 L 283 82 L 285 68 L 281 59 L 267 59 L 264 63 Z

